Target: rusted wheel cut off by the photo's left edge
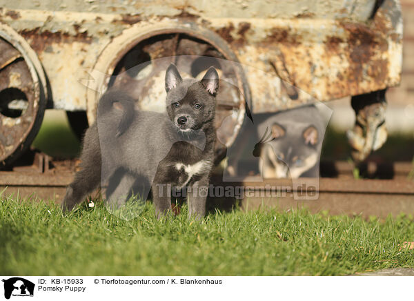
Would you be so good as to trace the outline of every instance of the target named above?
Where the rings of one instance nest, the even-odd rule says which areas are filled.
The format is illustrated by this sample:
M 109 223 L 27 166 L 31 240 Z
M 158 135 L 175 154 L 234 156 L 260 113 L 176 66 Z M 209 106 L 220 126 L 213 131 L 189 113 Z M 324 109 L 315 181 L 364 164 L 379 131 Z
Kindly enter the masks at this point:
M 34 51 L 14 30 L 0 27 L 0 168 L 32 144 L 46 108 L 46 79 Z

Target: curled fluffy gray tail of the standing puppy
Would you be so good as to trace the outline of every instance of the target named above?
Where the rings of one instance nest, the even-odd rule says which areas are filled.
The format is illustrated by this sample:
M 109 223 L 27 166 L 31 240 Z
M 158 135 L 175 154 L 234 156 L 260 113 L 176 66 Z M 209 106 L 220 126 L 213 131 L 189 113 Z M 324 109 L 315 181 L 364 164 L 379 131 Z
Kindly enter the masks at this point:
M 97 115 L 103 115 L 113 110 L 114 104 L 120 104 L 123 112 L 119 121 L 116 137 L 121 136 L 132 123 L 135 116 L 135 99 L 121 90 L 108 90 L 99 99 Z

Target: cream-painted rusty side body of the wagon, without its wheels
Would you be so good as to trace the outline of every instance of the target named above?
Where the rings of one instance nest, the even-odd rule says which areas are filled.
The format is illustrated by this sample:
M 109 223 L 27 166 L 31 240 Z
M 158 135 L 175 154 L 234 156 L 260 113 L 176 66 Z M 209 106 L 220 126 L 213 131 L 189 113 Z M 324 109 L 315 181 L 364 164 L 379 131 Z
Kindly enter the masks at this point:
M 50 80 L 53 106 L 86 110 L 100 53 L 128 28 L 191 26 L 216 32 L 246 68 L 254 112 L 359 95 L 400 82 L 397 0 L 0 0 L 0 21 L 25 37 Z M 220 9 L 217 10 L 217 7 Z M 376 10 L 376 11 L 375 11 Z M 292 97 L 290 85 L 299 90 Z

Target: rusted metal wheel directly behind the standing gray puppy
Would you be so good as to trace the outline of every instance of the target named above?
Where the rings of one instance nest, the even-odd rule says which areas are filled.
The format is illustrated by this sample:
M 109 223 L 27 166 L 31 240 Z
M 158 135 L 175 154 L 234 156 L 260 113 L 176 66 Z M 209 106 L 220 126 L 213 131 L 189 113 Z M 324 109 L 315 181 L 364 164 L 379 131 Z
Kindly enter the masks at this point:
M 105 72 L 101 81 L 95 78 L 95 91 L 88 91 L 88 122 L 95 121 L 95 108 L 100 93 L 111 86 L 128 91 L 139 99 L 141 110 L 165 110 L 164 77 L 173 62 L 183 77 L 198 78 L 210 66 L 219 71 L 216 128 L 218 156 L 233 144 L 250 106 L 250 90 L 242 66 L 226 41 L 214 32 L 200 28 L 175 27 L 148 30 L 135 37 L 137 31 L 124 32 L 103 51 L 95 68 Z M 132 37 L 134 36 L 134 37 Z M 201 79 L 201 78 L 200 78 Z

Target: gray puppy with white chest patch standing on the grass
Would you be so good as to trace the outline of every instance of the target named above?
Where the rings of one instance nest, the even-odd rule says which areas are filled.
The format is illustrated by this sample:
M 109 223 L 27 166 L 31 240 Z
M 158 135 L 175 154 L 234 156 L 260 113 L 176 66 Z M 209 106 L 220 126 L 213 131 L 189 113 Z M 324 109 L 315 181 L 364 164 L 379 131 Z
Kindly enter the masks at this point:
M 109 90 L 97 108 L 97 122 L 86 131 L 81 170 L 62 203 L 71 210 L 98 185 L 108 182 L 110 204 L 130 193 L 144 199 L 152 187 L 157 217 L 171 210 L 168 187 L 190 187 L 189 215 L 206 213 L 215 145 L 215 95 L 219 77 L 210 67 L 201 81 L 182 79 L 174 64 L 166 70 L 166 114 L 135 110 L 135 99 Z

